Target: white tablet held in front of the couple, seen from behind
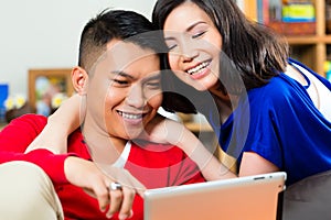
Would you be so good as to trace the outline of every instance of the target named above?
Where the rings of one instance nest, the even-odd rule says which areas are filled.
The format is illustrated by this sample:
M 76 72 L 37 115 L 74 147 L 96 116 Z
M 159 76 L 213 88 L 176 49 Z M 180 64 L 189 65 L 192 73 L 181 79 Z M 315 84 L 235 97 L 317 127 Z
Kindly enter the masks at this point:
M 277 172 L 149 189 L 145 220 L 276 220 L 285 180 Z

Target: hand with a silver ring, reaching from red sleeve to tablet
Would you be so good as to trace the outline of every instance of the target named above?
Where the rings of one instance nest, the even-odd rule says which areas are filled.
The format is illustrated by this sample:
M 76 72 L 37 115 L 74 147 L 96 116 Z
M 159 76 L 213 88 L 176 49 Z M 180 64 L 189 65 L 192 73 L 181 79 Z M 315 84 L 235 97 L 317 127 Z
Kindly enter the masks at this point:
M 130 218 L 132 213 L 132 202 L 135 195 L 141 197 L 145 186 L 138 182 L 131 174 L 114 166 L 100 167 L 94 162 L 70 156 L 65 160 L 64 172 L 68 182 L 75 186 L 82 187 L 88 195 L 98 200 L 102 211 L 109 210 L 106 213 L 110 218 L 115 212 L 119 212 L 120 219 Z M 110 189 L 111 183 L 119 183 L 121 189 Z

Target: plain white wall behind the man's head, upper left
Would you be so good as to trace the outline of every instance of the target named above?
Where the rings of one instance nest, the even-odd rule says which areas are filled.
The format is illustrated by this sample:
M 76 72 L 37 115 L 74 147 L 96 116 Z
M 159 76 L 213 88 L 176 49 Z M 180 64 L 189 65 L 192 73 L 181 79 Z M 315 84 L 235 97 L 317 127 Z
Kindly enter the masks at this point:
M 76 65 L 85 23 L 105 8 L 151 18 L 156 0 L 0 0 L 0 84 L 28 97 L 29 68 Z

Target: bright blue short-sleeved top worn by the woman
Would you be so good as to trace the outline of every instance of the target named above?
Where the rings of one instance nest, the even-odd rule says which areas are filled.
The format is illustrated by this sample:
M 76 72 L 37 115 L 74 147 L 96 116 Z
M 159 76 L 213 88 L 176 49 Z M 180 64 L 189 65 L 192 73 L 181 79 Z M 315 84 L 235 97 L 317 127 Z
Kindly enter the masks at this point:
M 289 63 L 302 66 L 331 90 L 327 79 L 293 59 Z M 307 88 L 285 74 L 249 90 L 221 128 L 212 127 L 222 148 L 238 158 L 238 165 L 243 152 L 255 152 L 287 173 L 287 185 L 331 169 L 331 122 L 316 108 Z

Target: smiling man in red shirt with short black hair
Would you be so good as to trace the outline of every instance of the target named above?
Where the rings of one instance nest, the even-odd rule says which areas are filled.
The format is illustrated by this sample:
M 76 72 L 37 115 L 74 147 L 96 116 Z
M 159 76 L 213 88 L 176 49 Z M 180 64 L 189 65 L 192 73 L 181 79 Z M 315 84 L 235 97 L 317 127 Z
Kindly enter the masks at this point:
M 135 195 L 145 187 L 204 182 L 179 147 L 130 141 L 157 117 L 162 101 L 157 52 L 164 45 L 157 34 L 146 34 L 150 31 L 146 18 L 120 10 L 102 12 L 85 25 L 72 72 L 84 121 L 68 138 L 67 154 L 23 153 L 44 128 L 44 117 L 28 114 L 3 129 L 4 219 L 142 219 L 142 199 Z

